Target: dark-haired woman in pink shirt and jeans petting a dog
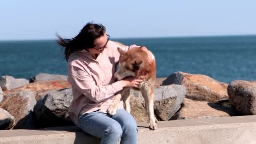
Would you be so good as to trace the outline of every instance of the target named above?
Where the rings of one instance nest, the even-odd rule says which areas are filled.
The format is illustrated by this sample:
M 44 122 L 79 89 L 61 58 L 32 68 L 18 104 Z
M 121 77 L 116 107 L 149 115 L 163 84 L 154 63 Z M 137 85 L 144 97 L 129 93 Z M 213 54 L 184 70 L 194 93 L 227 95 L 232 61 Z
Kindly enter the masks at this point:
M 137 143 L 136 121 L 123 109 L 120 102 L 115 115 L 107 114 L 115 93 L 124 87 L 137 87 L 142 80 L 126 77 L 116 81 L 114 74 L 120 53 L 130 47 L 109 40 L 101 24 L 88 23 L 72 39 L 59 37 L 68 61 L 68 81 L 72 85 L 74 99 L 69 116 L 83 131 L 101 138 L 101 144 Z M 137 47 L 137 46 L 136 46 Z

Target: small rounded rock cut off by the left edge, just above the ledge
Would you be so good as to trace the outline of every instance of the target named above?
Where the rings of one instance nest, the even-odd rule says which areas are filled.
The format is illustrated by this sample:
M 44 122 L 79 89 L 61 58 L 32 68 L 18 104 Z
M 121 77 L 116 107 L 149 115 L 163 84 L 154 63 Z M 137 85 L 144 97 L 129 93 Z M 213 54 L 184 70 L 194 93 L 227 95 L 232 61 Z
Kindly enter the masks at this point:
M 0 108 L 0 130 L 8 130 L 15 123 L 14 117 L 5 109 Z

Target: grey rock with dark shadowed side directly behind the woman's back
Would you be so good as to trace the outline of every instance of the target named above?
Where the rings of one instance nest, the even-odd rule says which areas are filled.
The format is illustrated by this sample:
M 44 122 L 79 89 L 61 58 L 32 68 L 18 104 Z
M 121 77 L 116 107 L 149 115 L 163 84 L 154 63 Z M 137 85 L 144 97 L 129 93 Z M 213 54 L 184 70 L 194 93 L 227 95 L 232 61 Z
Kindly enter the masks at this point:
M 68 109 L 72 99 L 71 88 L 50 92 L 39 99 L 34 107 L 36 127 L 74 125 L 68 117 Z

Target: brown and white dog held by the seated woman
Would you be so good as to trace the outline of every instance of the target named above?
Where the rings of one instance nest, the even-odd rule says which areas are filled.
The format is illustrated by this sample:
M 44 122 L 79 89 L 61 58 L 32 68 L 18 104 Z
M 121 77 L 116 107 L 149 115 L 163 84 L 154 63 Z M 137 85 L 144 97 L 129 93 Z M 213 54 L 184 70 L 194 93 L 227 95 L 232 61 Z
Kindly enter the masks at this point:
M 157 128 L 157 120 L 154 115 L 155 56 L 144 46 L 131 48 L 128 51 L 118 48 L 118 51 L 120 53 L 119 69 L 115 72 L 115 77 L 117 80 L 122 80 L 124 77 L 134 76 L 143 80 L 139 88 L 133 89 L 141 91 L 149 115 L 149 128 L 155 130 Z M 107 112 L 110 115 L 115 115 L 121 97 L 125 103 L 125 110 L 131 112 L 129 94 L 129 88 L 118 93 Z

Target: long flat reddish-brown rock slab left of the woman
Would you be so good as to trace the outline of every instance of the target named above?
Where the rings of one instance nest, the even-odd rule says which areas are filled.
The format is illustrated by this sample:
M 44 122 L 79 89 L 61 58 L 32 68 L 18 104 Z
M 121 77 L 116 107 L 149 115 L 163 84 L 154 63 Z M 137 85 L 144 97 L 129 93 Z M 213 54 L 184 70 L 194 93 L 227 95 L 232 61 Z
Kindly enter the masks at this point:
M 29 83 L 20 88 L 15 88 L 10 91 L 4 91 L 4 95 L 9 93 L 15 93 L 22 90 L 33 91 L 35 93 L 35 99 L 39 100 L 41 97 L 45 96 L 47 93 L 62 88 L 70 88 L 71 85 L 66 80 L 59 81 L 40 81 L 35 83 Z

